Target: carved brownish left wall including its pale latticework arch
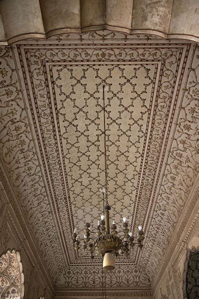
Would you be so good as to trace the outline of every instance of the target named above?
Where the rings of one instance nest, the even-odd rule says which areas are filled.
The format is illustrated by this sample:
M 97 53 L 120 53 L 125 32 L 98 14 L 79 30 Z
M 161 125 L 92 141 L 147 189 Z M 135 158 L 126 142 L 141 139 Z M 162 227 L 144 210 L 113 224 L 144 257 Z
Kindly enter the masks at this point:
M 2 171 L 1 167 L 0 164 Z M 2 173 L 0 175 L 2 179 Z M 36 252 L 35 256 L 31 252 L 17 221 L 19 214 L 14 214 L 11 208 L 11 196 L 9 199 L 7 196 L 8 185 L 5 181 L 3 183 L 6 192 L 0 181 L 0 204 L 3 203 L 4 207 L 0 213 L 0 298 L 22 299 L 24 294 L 24 298 L 38 299 L 37 296 L 33 296 L 34 282 L 37 278 L 36 290 L 42 295 L 47 287 L 46 298 L 52 299 L 52 289 L 36 266 L 39 262 L 35 260 Z

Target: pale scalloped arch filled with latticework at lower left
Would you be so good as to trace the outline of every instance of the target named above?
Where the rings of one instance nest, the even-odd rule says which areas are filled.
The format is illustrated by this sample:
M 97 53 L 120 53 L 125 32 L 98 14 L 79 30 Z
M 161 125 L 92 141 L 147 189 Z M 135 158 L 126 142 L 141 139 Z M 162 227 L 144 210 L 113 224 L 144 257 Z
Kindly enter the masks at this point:
M 20 254 L 8 250 L 0 257 L 0 298 L 23 299 L 24 276 Z

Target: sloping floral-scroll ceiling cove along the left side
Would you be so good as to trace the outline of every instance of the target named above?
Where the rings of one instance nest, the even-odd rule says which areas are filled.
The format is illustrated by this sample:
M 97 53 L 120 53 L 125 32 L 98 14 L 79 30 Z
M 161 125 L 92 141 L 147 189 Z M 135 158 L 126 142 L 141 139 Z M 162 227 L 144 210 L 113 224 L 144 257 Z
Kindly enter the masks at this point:
M 23 101 L 13 47 L 1 47 L 0 54 L 1 156 L 6 164 L 16 195 L 20 198 L 20 205 L 26 219 L 28 219 L 29 227 L 32 230 L 34 222 L 40 229 L 43 227 L 43 231 L 45 227 L 48 237 L 41 233 L 38 227 L 34 227 L 34 236 L 37 242 L 40 245 L 43 244 L 44 248 L 46 242 L 50 242 L 51 248 L 54 248 L 53 251 L 49 250 L 45 254 L 41 250 L 44 260 L 51 259 L 52 263 L 57 264 L 53 258 L 53 252 L 59 255 L 59 243 L 53 226 L 37 150 L 31 135 L 26 103 Z M 27 204 L 27 198 L 28 205 L 24 208 Z M 48 264 L 46 266 L 48 267 Z M 49 268 L 49 272 L 52 269 Z

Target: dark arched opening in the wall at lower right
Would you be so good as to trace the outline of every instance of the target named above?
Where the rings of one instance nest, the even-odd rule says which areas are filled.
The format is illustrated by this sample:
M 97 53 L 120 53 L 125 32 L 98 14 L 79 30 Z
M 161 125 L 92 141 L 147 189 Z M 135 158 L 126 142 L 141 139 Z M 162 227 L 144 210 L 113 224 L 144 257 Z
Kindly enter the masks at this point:
M 191 287 L 189 284 L 191 283 Z M 195 285 L 194 285 L 195 284 Z M 199 247 L 193 247 L 187 252 L 183 273 L 183 297 L 184 299 L 196 298 L 199 296 Z M 190 293 L 189 293 L 190 292 Z M 198 294 L 196 293 L 198 292 Z M 191 296 L 190 296 L 191 295 Z

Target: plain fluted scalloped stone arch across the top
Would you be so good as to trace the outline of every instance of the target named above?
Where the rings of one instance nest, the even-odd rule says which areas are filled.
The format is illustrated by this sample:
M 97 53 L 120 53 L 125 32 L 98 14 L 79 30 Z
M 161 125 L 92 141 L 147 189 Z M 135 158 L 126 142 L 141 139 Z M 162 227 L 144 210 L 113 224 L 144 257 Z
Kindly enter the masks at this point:
M 101 29 L 199 42 L 198 0 L 2 0 L 0 8 L 1 45 Z

